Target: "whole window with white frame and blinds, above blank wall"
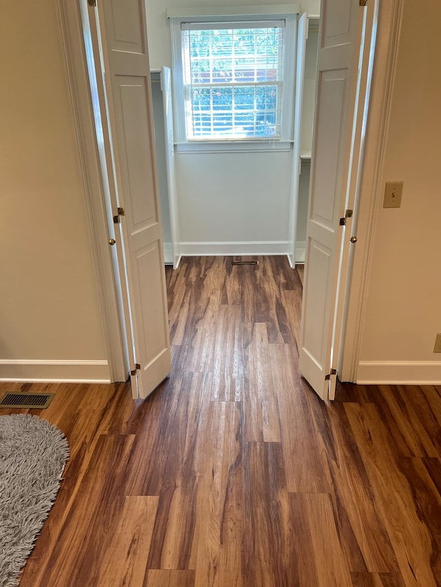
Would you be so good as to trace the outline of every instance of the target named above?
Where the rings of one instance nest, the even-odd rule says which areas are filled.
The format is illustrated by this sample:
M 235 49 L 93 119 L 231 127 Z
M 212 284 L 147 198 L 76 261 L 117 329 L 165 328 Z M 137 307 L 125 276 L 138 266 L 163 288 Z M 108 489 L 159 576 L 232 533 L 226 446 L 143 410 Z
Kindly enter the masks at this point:
M 178 149 L 289 149 L 294 14 L 173 21 Z

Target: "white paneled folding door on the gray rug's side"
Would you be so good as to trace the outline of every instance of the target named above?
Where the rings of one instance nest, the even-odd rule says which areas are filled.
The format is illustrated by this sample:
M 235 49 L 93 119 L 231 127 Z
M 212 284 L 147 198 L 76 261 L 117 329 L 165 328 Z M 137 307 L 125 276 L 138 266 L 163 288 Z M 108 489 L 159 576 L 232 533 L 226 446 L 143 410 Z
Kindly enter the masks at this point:
M 171 368 L 145 3 L 99 0 L 98 11 L 112 172 L 124 211 L 115 237 L 127 284 L 132 390 L 145 398 Z

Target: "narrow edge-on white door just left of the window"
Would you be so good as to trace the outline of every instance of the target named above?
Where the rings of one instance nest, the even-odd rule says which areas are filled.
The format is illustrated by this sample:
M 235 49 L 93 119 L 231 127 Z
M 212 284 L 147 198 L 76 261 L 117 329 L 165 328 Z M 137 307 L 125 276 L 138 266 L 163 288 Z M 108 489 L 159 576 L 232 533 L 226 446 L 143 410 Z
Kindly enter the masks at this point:
M 172 70 L 163 67 L 161 70 L 161 89 L 163 91 L 164 105 L 164 131 L 165 131 L 165 164 L 167 165 L 168 202 L 170 210 L 170 232 L 172 233 L 173 268 L 177 269 L 181 261 L 179 214 L 178 214 L 178 189 L 176 186 L 176 163 L 174 156 L 173 136 L 173 106 L 172 106 Z

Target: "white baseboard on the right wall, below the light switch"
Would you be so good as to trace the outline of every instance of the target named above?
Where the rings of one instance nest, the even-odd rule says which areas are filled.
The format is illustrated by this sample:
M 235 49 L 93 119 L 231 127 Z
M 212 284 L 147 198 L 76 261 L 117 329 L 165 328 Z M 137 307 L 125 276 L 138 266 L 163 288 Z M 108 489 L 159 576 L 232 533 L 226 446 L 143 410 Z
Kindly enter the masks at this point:
M 441 385 L 441 361 L 360 361 L 356 383 Z

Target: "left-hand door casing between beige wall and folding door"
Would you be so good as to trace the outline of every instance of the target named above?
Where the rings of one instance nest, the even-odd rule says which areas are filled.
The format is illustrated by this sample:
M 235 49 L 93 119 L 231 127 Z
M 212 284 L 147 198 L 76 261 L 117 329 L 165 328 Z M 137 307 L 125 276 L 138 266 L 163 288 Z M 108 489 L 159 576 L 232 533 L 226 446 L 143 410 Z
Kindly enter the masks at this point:
M 122 319 L 121 284 L 112 258 L 112 247 L 108 244 L 114 233 L 105 206 L 79 1 L 57 2 L 110 375 L 112 382 L 126 381 L 130 365 Z

